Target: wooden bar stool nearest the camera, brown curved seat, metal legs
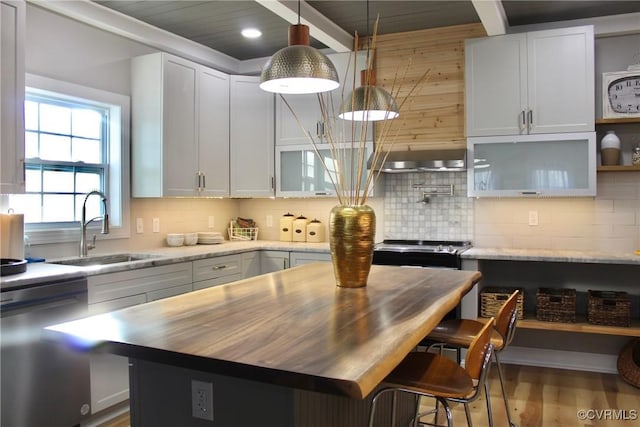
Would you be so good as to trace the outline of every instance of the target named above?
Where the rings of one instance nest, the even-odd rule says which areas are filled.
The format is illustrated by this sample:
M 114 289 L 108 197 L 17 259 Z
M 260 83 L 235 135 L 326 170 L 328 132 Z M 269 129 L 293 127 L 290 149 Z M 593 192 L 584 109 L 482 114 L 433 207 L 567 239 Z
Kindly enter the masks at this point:
M 492 319 L 493 322 L 493 319 Z M 385 378 L 384 387 L 380 389 L 371 401 L 369 413 L 369 427 L 373 427 L 375 409 L 378 398 L 391 392 L 412 393 L 417 396 L 416 411 L 413 425 L 438 424 L 420 422 L 420 396 L 432 397 L 444 407 L 447 426 L 453 427 L 453 418 L 448 402 L 464 404 L 467 423 L 472 426 L 469 403 L 476 400 L 485 391 L 487 399 L 487 415 L 493 424 L 491 404 L 489 402 L 489 388 L 486 382 L 493 345 L 491 344 L 492 322 L 487 323 L 474 337 L 465 358 L 465 367 L 461 367 L 448 357 L 427 352 L 409 353 L 402 362 Z M 436 413 L 437 421 L 437 413 Z

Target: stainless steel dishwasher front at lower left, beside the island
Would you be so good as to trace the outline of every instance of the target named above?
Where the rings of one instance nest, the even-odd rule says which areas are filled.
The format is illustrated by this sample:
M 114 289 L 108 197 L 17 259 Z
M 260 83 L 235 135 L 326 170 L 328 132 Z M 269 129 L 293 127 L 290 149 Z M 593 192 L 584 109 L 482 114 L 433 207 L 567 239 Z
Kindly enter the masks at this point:
M 42 328 L 87 315 L 87 281 L 0 292 L 3 427 L 72 427 L 90 415 L 89 356 L 41 339 Z

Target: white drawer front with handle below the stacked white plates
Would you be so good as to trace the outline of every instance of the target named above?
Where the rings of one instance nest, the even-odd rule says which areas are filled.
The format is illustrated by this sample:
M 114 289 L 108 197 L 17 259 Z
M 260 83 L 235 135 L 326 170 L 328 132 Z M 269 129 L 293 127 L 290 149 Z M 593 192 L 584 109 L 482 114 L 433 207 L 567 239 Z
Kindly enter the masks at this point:
M 224 255 L 193 262 L 193 289 L 204 289 L 242 279 L 242 257 Z

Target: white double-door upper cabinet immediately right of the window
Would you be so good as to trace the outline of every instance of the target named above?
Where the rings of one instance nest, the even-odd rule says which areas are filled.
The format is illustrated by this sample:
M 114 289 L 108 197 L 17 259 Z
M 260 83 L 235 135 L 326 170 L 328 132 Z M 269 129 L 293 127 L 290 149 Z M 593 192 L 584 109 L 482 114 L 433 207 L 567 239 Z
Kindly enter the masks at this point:
M 131 79 L 133 196 L 227 196 L 229 76 L 154 53 Z

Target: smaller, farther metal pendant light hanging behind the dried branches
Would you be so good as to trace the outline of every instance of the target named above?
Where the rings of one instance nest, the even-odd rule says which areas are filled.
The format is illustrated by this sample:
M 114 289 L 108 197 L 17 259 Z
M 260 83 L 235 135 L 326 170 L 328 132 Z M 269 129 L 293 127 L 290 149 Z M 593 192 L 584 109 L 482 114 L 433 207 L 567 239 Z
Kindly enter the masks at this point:
M 374 33 L 377 33 L 377 21 Z M 369 1 L 367 0 L 367 33 L 369 32 Z M 360 87 L 356 88 L 344 99 L 340 106 L 340 117 L 343 120 L 358 122 L 375 122 L 395 119 L 400 115 L 398 105 L 391 94 L 376 86 L 376 72 L 373 70 L 373 55 L 369 58 L 370 36 L 367 34 L 367 69 L 360 72 Z

